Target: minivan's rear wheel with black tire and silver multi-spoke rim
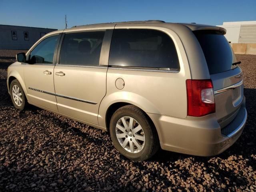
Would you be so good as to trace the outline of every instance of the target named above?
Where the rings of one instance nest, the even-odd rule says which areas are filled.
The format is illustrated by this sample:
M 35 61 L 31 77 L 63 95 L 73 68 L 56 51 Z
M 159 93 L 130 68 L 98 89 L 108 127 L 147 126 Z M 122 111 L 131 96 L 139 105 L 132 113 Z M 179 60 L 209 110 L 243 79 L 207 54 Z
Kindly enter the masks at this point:
M 132 122 L 132 131 L 130 131 L 130 122 Z M 142 128 L 141 130 L 139 126 Z M 139 131 L 136 132 L 137 130 Z M 154 124 L 145 112 L 134 105 L 123 106 L 114 112 L 110 120 L 110 136 L 116 149 L 122 155 L 134 161 L 151 158 L 160 146 Z M 122 138 L 120 138 L 121 136 Z M 125 147 L 122 147 L 122 144 Z

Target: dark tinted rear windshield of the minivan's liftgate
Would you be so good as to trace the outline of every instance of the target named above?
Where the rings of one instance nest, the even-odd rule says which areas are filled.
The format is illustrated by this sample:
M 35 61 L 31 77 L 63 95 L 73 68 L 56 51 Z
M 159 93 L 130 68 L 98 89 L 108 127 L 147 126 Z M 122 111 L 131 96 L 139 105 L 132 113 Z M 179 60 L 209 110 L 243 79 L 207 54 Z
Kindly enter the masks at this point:
M 235 55 L 221 32 L 200 30 L 194 34 L 202 47 L 210 74 L 236 68 L 232 66 Z

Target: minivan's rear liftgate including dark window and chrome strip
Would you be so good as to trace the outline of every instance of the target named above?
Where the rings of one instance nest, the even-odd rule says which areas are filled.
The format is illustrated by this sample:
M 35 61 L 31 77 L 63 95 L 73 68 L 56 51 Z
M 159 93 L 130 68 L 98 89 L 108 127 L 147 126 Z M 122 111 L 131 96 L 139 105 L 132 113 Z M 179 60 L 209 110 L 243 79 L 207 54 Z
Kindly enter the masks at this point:
M 232 65 L 236 56 L 221 32 L 194 31 L 198 39 L 214 86 L 216 116 L 221 127 L 229 124 L 238 113 L 243 100 L 243 74 L 238 65 Z

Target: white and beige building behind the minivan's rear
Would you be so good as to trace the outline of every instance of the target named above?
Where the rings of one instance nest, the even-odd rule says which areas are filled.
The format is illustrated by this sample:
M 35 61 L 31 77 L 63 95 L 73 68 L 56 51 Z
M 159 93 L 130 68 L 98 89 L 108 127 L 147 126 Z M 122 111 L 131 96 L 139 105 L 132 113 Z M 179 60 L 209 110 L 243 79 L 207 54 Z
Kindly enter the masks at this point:
M 223 22 L 217 26 L 227 30 L 225 36 L 230 43 L 256 43 L 256 21 Z

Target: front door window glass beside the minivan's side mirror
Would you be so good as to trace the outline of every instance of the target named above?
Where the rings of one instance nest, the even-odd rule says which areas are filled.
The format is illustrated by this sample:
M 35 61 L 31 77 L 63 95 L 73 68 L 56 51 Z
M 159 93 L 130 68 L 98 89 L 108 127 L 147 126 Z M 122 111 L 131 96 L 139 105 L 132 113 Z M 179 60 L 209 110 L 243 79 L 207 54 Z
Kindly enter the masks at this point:
M 47 63 L 52 64 L 54 51 L 58 42 L 58 35 L 42 40 L 30 53 L 32 64 Z

